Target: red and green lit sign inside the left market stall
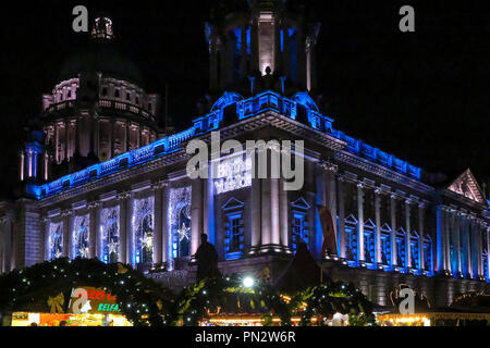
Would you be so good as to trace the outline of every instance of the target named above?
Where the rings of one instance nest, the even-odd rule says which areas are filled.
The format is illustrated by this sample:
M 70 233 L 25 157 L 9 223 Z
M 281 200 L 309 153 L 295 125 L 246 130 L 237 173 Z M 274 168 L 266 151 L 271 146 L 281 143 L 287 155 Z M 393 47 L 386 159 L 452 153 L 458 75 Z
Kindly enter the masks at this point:
M 121 312 L 115 296 L 102 289 L 78 287 L 72 289 L 69 313 L 74 314 L 108 314 Z

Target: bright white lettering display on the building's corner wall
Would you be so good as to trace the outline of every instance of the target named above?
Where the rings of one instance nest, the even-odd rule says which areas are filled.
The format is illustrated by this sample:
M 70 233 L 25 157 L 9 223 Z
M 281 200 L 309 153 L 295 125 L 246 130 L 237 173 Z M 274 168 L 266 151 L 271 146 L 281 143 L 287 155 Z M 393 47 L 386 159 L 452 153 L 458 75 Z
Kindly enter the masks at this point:
M 215 179 L 216 194 L 224 194 L 252 186 L 252 158 L 233 158 L 218 164 Z

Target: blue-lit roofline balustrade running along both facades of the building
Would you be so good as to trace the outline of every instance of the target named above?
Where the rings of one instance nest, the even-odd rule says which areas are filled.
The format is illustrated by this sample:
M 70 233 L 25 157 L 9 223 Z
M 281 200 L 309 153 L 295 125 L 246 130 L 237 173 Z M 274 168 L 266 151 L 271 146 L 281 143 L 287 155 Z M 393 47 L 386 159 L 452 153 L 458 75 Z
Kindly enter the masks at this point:
M 33 191 L 36 191 L 36 196 L 38 196 L 37 198 L 41 199 L 47 196 L 56 195 L 61 190 L 103 177 L 119 170 L 131 167 L 156 159 L 160 156 L 174 152 L 193 137 L 218 129 L 223 122 L 223 117 L 225 115 L 223 112 L 224 110 L 226 110 L 228 115 L 229 110 L 233 110 L 233 108 L 235 108 L 235 117 L 237 117 L 237 120 L 252 117 L 267 110 L 272 110 L 286 117 L 296 120 L 301 119 L 298 116 L 299 105 L 302 107 L 303 112 L 302 122 L 306 123 L 314 129 L 324 132 L 340 140 L 345 141 L 347 144 L 345 148 L 347 152 L 379 163 L 380 165 L 416 179 L 420 179 L 421 169 L 416 167 L 406 161 L 400 160 L 392 154 L 385 153 L 380 149 L 371 147 L 363 140 L 355 139 L 345 135 L 343 132 L 332 128 L 333 120 L 318 112 L 318 108 L 316 108 L 314 101 L 308 96 L 305 96 L 305 94 L 295 96 L 293 99 L 285 98 L 274 91 L 266 91 L 255 97 L 237 101 L 236 99 L 230 98 L 229 103 L 223 102 L 220 104 L 220 108 L 213 108 L 213 111 L 209 114 L 196 119 L 194 121 L 194 125 L 184 132 L 156 140 L 145 147 L 120 154 L 109 161 L 93 165 L 84 171 L 70 174 L 57 179 L 56 182 L 38 186 Z M 70 105 L 69 101 L 66 103 Z M 140 114 L 145 112 L 143 109 L 135 108 L 134 105 L 111 100 L 100 100 L 99 107 L 114 108 L 117 110 L 125 110 Z

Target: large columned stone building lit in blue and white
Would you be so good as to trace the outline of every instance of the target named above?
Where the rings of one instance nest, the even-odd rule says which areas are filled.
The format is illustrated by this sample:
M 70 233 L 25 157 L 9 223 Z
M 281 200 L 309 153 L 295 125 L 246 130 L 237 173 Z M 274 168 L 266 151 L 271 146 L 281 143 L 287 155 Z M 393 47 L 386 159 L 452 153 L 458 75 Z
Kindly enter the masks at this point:
M 126 60 L 106 52 L 88 65 L 70 61 L 44 98 L 45 139 L 34 134 L 21 154 L 26 197 L 0 206 L 1 271 L 96 257 L 179 286 L 194 281 L 189 261 L 204 232 L 224 273 L 273 282 L 303 240 L 331 277 L 380 304 L 402 283 L 436 306 L 488 288 L 490 210 L 471 172 L 433 187 L 421 169 L 335 129 L 311 97 L 320 25 L 295 3 L 215 12 L 205 28 L 213 102 L 173 135 L 158 135 L 158 96 L 139 87 Z M 93 52 L 107 50 L 110 20 L 93 35 Z M 303 188 L 253 178 L 243 153 L 223 160 L 218 177 L 191 179 L 186 145 L 210 142 L 213 130 L 221 141 L 304 140 Z M 63 163 L 69 174 L 51 179 Z M 319 206 L 336 236 L 336 252 L 324 257 Z

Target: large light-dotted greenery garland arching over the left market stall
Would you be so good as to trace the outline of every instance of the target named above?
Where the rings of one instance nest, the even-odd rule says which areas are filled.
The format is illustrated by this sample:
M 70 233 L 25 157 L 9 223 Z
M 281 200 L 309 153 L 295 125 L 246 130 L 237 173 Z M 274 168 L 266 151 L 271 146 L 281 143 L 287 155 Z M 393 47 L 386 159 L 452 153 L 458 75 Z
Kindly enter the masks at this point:
M 121 312 L 135 326 L 169 325 L 173 294 L 122 263 L 66 258 L 14 270 L 0 276 L 0 312 L 12 312 L 62 288 L 94 286 L 117 297 Z

